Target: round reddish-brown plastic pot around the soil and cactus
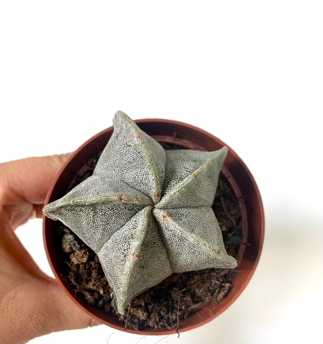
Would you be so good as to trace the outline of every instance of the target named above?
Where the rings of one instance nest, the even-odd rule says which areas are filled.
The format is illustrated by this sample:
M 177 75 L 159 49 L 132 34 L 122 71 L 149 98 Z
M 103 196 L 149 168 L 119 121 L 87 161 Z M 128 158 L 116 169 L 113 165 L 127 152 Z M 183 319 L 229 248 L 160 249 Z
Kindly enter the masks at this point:
M 176 144 L 185 149 L 201 151 L 216 151 L 223 146 L 228 147 L 228 145 L 213 135 L 182 122 L 163 119 L 142 119 L 135 122 L 144 132 L 158 142 Z M 86 168 L 85 162 L 88 162 L 94 154 L 103 151 L 112 132 L 113 127 L 110 127 L 98 133 L 72 154 L 55 178 L 45 204 L 62 197 L 66 193 L 74 176 Z M 193 313 L 185 320 L 184 324 L 180 325 L 178 328 L 179 332 L 201 326 L 225 311 L 246 288 L 260 258 L 265 222 L 263 204 L 256 182 L 246 165 L 230 147 L 228 147 L 228 155 L 221 171 L 227 177 L 228 182 L 239 198 L 242 210 L 244 241 L 239 248 L 237 267 L 239 272 L 236 273 L 232 281 L 232 288 L 229 294 L 217 305 L 213 305 L 210 302 L 203 309 Z M 122 324 L 120 324 L 116 317 L 105 314 L 97 308 L 88 305 L 78 295 L 75 295 L 75 291 L 71 289 L 65 279 L 60 278 L 60 276 L 64 275 L 64 263 L 57 259 L 57 238 L 55 240 L 53 222 L 49 218 L 43 217 L 43 242 L 47 259 L 58 283 L 70 299 L 88 315 L 105 325 L 123 330 Z M 141 335 L 168 335 L 175 333 L 175 331 L 171 330 L 158 332 L 127 330 L 127 332 Z

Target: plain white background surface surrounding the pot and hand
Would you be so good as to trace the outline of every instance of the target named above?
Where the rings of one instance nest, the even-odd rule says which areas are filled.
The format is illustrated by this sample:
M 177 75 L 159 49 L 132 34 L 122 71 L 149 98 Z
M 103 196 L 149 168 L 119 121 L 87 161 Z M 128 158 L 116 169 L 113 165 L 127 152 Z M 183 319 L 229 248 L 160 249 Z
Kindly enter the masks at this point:
M 266 212 L 257 271 L 211 323 L 179 339 L 102 325 L 30 343 L 322 339 L 322 18 L 311 0 L 0 2 L 0 162 L 75 150 L 117 110 L 175 119 L 238 153 Z M 17 233 L 50 274 L 41 220 Z

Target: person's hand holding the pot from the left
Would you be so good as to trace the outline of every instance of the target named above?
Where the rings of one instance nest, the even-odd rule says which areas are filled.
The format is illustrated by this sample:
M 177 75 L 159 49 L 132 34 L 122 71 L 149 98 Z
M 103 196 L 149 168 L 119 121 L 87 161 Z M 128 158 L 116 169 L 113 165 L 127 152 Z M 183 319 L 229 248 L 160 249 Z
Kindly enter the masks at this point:
M 70 154 L 0 164 L 0 343 L 20 344 L 51 332 L 98 325 L 42 272 L 14 233 L 41 209 Z M 32 235 L 32 234 L 31 234 Z

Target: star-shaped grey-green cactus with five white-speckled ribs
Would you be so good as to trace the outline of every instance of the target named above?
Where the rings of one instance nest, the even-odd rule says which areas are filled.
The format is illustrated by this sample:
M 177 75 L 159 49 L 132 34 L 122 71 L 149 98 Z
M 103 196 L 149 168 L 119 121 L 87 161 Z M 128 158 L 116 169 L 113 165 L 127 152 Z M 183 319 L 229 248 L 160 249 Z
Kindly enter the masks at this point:
M 173 272 L 234 268 L 211 208 L 224 147 L 164 150 L 125 113 L 93 175 L 43 208 L 96 252 L 120 314 Z

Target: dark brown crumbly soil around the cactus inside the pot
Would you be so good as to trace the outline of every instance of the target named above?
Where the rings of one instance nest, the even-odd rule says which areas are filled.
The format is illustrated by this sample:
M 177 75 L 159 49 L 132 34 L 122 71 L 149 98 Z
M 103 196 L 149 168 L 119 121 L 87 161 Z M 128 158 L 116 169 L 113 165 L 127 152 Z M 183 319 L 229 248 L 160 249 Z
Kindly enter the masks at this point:
M 181 148 L 162 145 L 165 149 Z M 92 175 L 98 158 L 95 156 L 87 163 L 88 170 L 75 177 L 70 189 Z M 228 254 L 238 258 L 239 244 L 243 239 L 241 211 L 238 198 L 222 174 L 212 208 L 222 229 Z M 230 291 L 234 270 L 211 268 L 176 273 L 134 298 L 121 316 L 97 255 L 61 222 L 56 221 L 55 226 L 61 260 L 66 264 L 66 281 L 89 304 L 118 317 L 125 329 L 176 330 L 194 310 L 209 301 L 217 304 Z

